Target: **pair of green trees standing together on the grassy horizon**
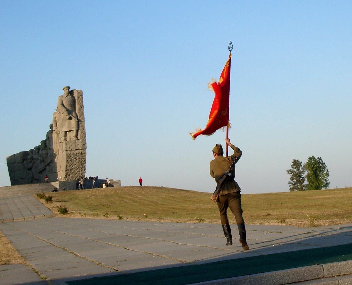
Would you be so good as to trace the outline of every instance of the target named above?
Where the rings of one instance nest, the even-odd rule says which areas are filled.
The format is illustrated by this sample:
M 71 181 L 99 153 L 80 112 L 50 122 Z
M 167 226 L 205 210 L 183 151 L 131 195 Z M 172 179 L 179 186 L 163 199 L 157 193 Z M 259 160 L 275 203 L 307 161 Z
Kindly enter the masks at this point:
M 330 185 L 329 170 L 321 157 L 316 159 L 310 156 L 304 164 L 294 159 L 286 172 L 290 175 L 290 181 L 287 182 L 290 191 L 320 190 Z

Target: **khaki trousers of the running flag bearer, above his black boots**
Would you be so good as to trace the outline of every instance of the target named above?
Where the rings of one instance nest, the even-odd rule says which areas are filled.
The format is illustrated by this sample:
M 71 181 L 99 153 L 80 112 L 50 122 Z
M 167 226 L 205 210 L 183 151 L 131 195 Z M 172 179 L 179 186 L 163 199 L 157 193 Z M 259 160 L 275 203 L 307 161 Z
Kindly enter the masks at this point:
M 220 195 L 216 203 L 218 204 L 220 221 L 222 225 L 226 225 L 228 223 L 227 208 L 230 208 L 231 212 L 235 216 L 237 224 L 244 223 L 242 216 L 243 211 L 241 204 L 241 193 L 239 191 Z

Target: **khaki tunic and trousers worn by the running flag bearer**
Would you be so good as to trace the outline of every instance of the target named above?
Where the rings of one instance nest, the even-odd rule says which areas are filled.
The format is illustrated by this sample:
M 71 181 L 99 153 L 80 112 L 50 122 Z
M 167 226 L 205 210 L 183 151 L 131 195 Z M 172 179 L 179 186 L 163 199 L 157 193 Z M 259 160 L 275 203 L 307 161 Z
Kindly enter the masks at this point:
M 237 163 L 242 155 L 242 151 L 235 147 L 233 144 L 230 146 L 234 154 L 228 157 L 222 155 L 216 157 L 216 159 L 210 161 L 210 175 L 215 178 L 215 181 L 218 182 L 220 177 L 226 172 L 230 167 L 232 161 Z M 234 163 L 234 164 L 235 164 Z M 231 173 L 235 176 L 235 166 L 231 169 Z M 231 212 L 235 216 L 236 223 L 244 223 L 242 216 L 242 205 L 241 205 L 241 188 L 234 179 L 225 180 L 221 185 L 221 191 L 219 199 L 216 202 L 220 211 L 220 220 L 221 224 L 228 224 L 227 218 L 227 208 L 230 208 Z

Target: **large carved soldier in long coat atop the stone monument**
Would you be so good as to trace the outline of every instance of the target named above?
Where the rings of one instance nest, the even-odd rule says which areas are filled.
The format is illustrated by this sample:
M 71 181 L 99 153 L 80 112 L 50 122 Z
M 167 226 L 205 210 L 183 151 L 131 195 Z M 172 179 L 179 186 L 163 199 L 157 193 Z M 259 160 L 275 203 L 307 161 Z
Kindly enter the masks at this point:
M 57 100 L 56 116 L 54 116 L 54 132 L 59 131 L 60 141 L 78 140 L 78 116 L 76 113 L 76 100 L 70 94 L 70 86 L 62 88 L 64 94 Z M 54 113 L 55 114 L 55 113 Z M 69 135 L 69 136 L 68 136 Z

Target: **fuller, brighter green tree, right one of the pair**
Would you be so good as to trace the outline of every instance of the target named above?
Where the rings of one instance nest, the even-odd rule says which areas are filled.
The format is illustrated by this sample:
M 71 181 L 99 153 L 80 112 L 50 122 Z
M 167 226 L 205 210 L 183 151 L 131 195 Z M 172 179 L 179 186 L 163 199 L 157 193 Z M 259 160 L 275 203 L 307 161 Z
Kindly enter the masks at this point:
M 307 190 L 320 190 L 329 187 L 329 171 L 321 157 L 318 159 L 314 156 L 308 157 L 303 167 L 307 171 Z

